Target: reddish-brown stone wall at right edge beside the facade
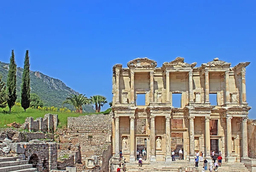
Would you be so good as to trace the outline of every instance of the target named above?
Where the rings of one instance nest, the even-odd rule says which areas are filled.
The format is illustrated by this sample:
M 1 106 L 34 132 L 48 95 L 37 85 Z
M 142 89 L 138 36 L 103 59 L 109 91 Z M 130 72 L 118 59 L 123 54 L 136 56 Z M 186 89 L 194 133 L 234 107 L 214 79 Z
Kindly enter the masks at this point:
M 256 120 L 249 119 L 247 122 L 248 133 L 248 156 L 256 159 Z

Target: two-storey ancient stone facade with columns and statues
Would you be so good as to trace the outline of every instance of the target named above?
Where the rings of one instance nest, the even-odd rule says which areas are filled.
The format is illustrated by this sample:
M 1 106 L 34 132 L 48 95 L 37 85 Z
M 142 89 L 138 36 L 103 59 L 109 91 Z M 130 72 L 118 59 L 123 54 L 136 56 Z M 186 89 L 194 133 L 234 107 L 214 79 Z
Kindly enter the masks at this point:
M 157 62 L 137 58 L 113 66 L 113 155 L 122 150 L 135 161 L 145 148 L 150 161 L 172 161 L 171 151 L 183 150 L 194 161 L 196 151 L 210 157 L 222 152 L 224 161 L 248 158 L 245 67 L 215 58 L 199 67 L 177 57 L 157 67 Z M 180 107 L 173 97 L 181 96 Z M 137 102 L 144 96 L 145 104 Z M 216 97 L 210 102 L 210 95 Z M 177 101 L 177 100 L 176 100 Z

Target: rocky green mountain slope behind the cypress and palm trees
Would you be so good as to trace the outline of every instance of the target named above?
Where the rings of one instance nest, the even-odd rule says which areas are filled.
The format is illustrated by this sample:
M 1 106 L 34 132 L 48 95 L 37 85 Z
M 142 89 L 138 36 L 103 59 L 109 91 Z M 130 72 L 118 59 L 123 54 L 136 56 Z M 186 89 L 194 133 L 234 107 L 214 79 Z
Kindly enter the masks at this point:
M 9 70 L 9 64 L 0 62 L 0 74 L 3 76 L 3 81 L 7 81 L 7 74 Z M 23 68 L 17 68 L 17 102 L 20 101 L 20 86 L 22 78 Z M 44 75 L 38 71 L 30 71 L 30 93 L 36 93 L 44 101 L 44 106 L 61 107 L 62 102 L 70 94 L 79 94 L 78 92 L 67 87 L 64 82 L 59 79 L 54 79 Z M 65 104 L 65 107 L 74 110 L 74 108 Z M 84 112 L 95 112 L 92 105 L 84 105 Z

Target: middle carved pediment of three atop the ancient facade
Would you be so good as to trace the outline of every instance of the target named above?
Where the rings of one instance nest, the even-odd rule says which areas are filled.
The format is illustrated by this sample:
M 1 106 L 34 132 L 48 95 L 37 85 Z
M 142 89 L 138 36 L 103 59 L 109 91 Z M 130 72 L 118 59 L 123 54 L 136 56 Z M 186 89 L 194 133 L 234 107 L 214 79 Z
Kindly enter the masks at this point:
M 164 68 L 194 68 L 197 63 L 194 62 L 192 64 L 184 62 L 183 57 L 176 57 L 175 60 L 172 62 L 164 62 L 163 67 Z

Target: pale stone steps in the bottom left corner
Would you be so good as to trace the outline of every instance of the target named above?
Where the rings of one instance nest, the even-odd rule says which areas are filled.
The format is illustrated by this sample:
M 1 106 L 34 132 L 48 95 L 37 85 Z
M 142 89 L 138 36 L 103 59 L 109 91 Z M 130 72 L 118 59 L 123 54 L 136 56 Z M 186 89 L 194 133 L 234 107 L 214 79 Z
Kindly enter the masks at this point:
M 1 157 L 0 172 L 36 172 L 29 161 L 23 160 L 23 157 Z

